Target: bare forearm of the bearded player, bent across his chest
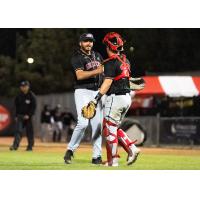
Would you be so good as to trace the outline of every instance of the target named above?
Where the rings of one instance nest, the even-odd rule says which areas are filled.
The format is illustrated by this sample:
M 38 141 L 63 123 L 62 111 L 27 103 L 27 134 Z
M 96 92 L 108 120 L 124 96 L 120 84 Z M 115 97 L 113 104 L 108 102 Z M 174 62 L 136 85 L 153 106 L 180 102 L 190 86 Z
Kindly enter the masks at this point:
M 92 71 L 84 71 L 82 69 L 76 70 L 77 80 L 84 80 L 103 73 L 103 66 L 100 65 L 97 69 Z

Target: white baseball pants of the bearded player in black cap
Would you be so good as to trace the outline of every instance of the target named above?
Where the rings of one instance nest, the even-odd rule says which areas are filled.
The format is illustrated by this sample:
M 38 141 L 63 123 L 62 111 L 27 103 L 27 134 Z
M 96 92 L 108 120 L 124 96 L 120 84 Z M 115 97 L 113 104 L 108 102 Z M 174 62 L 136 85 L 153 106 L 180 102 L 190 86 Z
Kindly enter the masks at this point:
M 90 122 L 92 127 L 93 158 L 97 158 L 102 154 L 102 148 L 101 148 L 102 144 L 101 132 L 102 132 L 102 122 L 103 122 L 102 101 L 98 103 L 96 108 L 96 115 L 93 119 L 88 120 L 84 118 L 82 116 L 81 109 L 83 108 L 83 106 L 87 105 L 90 101 L 94 100 L 97 93 L 98 91 L 93 91 L 88 89 L 75 90 L 74 97 L 75 97 L 78 121 L 67 148 L 74 152 L 79 147 L 81 140 L 84 136 L 85 130 Z

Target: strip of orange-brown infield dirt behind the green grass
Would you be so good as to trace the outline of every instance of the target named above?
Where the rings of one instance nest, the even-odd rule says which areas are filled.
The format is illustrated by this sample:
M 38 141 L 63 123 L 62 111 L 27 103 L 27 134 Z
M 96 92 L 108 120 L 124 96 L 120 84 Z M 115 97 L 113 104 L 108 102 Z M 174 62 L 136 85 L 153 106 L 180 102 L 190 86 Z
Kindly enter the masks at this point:
M 12 144 L 12 137 L 0 137 L 0 148 L 8 148 Z M 22 139 L 21 148 L 27 145 L 26 138 Z M 65 143 L 42 143 L 39 139 L 35 140 L 34 151 L 37 152 L 65 152 Z M 122 149 L 120 148 L 119 151 Z M 200 147 L 141 147 L 143 154 L 158 154 L 158 155 L 193 155 L 200 156 Z M 91 152 L 91 144 L 81 144 L 78 151 Z M 103 147 L 105 152 L 105 148 Z

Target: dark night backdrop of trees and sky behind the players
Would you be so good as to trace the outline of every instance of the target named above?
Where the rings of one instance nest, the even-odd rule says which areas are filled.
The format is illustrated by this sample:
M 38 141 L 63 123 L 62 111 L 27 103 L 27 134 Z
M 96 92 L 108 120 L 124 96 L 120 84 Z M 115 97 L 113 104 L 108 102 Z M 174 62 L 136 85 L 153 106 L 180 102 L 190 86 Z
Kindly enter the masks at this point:
M 125 53 L 136 77 L 199 74 L 199 29 L 0 29 L 1 96 L 14 96 L 22 79 L 30 80 L 37 94 L 72 90 L 70 57 L 80 34 L 93 33 L 94 49 L 106 58 L 102 39 L 110 31 L 120 33 L 126 40 Z M 28 64 L 28 57 L 35 62 Z

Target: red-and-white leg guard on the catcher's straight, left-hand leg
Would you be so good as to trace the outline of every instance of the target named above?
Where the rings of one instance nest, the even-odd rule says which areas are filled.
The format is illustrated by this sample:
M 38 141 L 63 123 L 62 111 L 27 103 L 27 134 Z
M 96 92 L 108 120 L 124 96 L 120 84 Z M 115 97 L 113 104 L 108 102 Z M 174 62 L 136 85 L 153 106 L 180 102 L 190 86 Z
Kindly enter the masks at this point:
M 117 125 L 104 119 L 103 121 L 103 135 L 106 139 L 106 151 L 108 165 L 112 166 L 113 158 L 119 157 L 117 155 Z

